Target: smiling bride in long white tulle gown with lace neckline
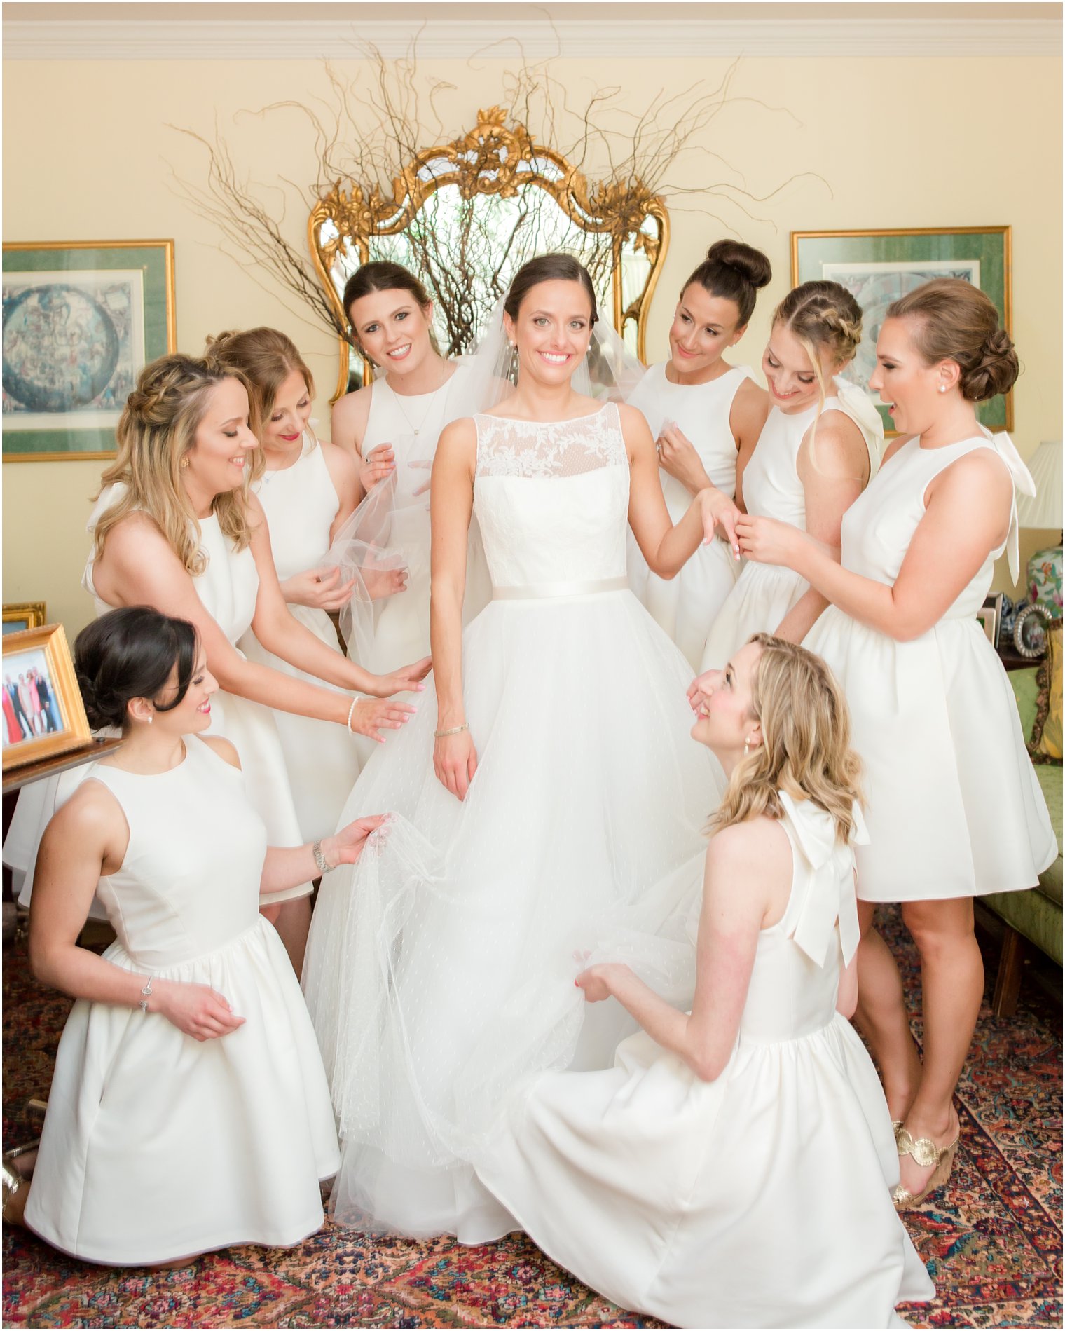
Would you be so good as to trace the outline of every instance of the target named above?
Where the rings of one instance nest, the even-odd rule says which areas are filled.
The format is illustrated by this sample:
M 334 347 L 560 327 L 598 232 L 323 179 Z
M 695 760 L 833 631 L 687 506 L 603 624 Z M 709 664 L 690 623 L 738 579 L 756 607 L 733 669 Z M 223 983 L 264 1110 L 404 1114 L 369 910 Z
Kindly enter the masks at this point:
M 690 667 L 627 587 L 626 523 L 670 578 L 712 539 L 718 496 L 671 524 L 643 417 L 580 393 L 586 361 L 618 367 L 587 272 L 532 260 L 474 366 L 497 391 L 517 371 L 517 389 L 437 449 L 437 708 L 355 783 L 343 819 L 395 816 L 377 856 L 323 880 L 304 970 L 341 1222 L 467 1243 L 518 1227 L 467 1163 L 502 1091 L 608 1066 L 634 1029 L 572 1004 L 575 954 L 604 932 L 614 956 L 626 929 L 683 936 L 699 890 L 723 780 L 688 743 Z M 493 599 L 463 634 L 474 514 Z

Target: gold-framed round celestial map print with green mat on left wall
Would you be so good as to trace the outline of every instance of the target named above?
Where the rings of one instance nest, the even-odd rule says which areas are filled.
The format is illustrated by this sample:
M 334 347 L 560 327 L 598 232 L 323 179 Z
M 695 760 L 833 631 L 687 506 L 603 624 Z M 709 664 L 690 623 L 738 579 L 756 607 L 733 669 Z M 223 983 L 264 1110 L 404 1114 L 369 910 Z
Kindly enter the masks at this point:
M 4 245 L 4 462 L 113 458 L 137 375 L 177 350 L 173 241 Z

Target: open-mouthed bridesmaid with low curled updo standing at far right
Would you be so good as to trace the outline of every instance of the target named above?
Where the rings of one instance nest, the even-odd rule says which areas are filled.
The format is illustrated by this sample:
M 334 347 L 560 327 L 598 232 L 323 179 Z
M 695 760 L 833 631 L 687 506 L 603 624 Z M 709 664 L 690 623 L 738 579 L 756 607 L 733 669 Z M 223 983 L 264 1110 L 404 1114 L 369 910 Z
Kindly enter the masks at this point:
M 1013 693 L 976 622 L 994 560 L 1017 576 L 1014 487 L 1032 478 L 976 403 L 1005 393 L 1017 354 L 994 305 L 941 278 L 888 309 L 869 381 L 899 430 L 843 522 L 843 563 L 793 527 L 740 522 L 744 554 L 796 570 L 832 604 L 805 640 L 843 684 L 867 772 L 857 855 L 859 1021 L 899 1122 L 900 1206 L 947 1182 L 953 1093 L 984 992 L 973 896 L 1030 888 L 1057 856 Z M 899 970 L 872 928 L 901 901 L 921 956 L 919 1058 Z

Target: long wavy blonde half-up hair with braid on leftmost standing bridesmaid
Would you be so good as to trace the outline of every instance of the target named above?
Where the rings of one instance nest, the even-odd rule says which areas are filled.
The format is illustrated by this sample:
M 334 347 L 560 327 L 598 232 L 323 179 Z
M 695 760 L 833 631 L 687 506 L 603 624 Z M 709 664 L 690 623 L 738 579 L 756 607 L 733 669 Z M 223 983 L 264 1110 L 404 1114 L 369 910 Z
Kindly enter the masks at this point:
M 114 429 L 117 455 L 100 478 L 100 492 L 114 482 L 121 482 L 125 492 L 96 523 L 95 559 L 101 556 L 110 528 L 130 512 L 140 511 L 158 526 L 190 576 L 206 568 L 206 555 L 200 548 L 200 523 L 181 483 L 181 459 L 196 442 L 212 391 L 226 379 L 244 385 L 249 425 L 252 433 L 258 435 L 256 393 L 236 367 L 222 365 L 213 357 L 174 353 L 161 355 L 141 370 Z M 244 470 L 242 484 L 216 495 L 212 503 L 218 526 L 237 550 L 252 539 L 246 499 L 249 484 L 262 473 L 258 449 Z

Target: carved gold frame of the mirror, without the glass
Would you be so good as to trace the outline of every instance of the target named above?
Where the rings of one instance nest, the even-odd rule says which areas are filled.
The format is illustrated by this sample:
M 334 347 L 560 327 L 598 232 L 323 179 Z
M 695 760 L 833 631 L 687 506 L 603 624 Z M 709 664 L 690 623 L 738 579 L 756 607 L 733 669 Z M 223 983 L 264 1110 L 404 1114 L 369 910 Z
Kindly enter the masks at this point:
M 338 326 L 347 323 L 331 276 L 338 256 L 351 253 L 358 256 L 359 264 L 369 262 L 371 240 L 405 232 L 430 196 L 445 185 L 458 185 L 463 200 L 478 194 L 509 198 L 523 186 L 535 185 L 550 194 L 580 230 L 611 237 L 611 318 L 622 335 L 635 322 L 636 353 L 646 362 L 647 315 L 670 242 L 664 201 L 639 180 L 590 184 L 559 153 L 535 144 L 523 125 L 507 125 L 505 120 L 499 106 L 478 110 L 477 128 L 470 133 L 419 152 L 393 181 L 390 198 L 355 181 L 350 181 L 345 192 L 337 181 L 316 204 L 308 222 L 310 253 L 338 315 Z M 627 303 L 622 270 L 626 245 L 642 253 L 648 265 L 642 289 Z M 333 401 L 347 391 L 350 345 L 341 338 L 341 369 Z

